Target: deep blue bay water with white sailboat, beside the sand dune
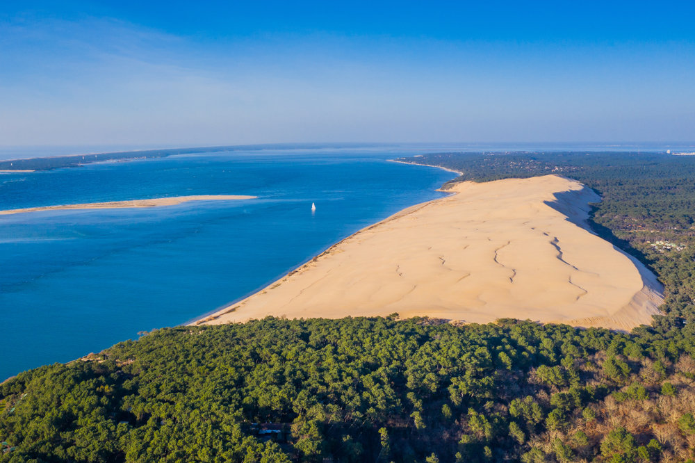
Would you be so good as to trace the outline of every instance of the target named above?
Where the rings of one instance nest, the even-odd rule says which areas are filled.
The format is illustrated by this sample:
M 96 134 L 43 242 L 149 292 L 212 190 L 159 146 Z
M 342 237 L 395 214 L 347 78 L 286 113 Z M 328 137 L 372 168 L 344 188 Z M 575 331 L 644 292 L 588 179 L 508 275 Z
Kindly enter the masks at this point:
M 259 196 L 0 216 L 0 380 L 243 298 L 358 229 L 440 197 L 455 177 L 386 161 L 402 155 L 236 152 L 0 174 L 0 209 Z

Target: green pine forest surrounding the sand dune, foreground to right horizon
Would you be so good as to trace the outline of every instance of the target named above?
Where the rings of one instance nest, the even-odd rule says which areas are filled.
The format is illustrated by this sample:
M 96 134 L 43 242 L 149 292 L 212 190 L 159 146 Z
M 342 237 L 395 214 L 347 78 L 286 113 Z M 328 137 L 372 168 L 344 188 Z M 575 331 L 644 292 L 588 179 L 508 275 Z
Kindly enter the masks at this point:
M 657 272 L 667 314 L 631 334 L 397 314 L 167 328 L 1 384 L 0 462 L 691 462 L 695 159 L 410 161 L 589 184 L 592 226 Z

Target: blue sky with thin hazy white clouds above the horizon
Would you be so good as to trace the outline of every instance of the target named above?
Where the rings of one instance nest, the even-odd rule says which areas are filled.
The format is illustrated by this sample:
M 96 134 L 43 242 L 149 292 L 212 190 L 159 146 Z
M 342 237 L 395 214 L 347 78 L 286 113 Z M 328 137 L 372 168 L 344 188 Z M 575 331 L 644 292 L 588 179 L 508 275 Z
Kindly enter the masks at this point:
M 7 0 L 0 145 L 691 141 L 693 18 L 693 1 Z

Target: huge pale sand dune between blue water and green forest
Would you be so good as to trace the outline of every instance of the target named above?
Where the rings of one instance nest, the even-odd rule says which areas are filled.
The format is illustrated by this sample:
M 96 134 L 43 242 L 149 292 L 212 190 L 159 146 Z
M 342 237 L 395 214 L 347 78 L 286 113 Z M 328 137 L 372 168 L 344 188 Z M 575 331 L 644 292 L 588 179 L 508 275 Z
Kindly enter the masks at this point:
M 265 290 L 197 323 L 287 316 L 513 317 L 630 330 L 662 286 L 587 229 L 577 181 L 549 175 L 457 184 L 350 236 Z

